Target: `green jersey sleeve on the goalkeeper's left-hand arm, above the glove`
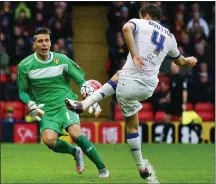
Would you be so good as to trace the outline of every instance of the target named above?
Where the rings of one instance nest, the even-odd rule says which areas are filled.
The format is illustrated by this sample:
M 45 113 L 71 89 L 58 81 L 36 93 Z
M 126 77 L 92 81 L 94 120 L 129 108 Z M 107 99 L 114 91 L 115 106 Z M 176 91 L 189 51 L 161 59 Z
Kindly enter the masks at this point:
M 17 84 L 19 89 L 19 97 L 24 103 L 28 103 L 31 98 L 28 94 L 29 91 L 29 79 L 28 75 L 23 71 L 23 68 L 18 66 Z

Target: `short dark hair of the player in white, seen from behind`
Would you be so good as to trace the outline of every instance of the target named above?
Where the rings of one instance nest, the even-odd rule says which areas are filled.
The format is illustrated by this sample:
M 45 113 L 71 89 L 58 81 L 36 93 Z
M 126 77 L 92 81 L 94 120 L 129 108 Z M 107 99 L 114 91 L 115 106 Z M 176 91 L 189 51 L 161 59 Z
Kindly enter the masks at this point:
M 156 20 L 156 21 L 161 21 L 161 18 L 162 18 L 161 8 L 159 8 L 156 4 L 153 4 L 153 3 L 143 6 L 140 9 L 139 14 L 141 14 L 142 17 L 145 17 L 146 14 L 149 14 L 152 20 Z

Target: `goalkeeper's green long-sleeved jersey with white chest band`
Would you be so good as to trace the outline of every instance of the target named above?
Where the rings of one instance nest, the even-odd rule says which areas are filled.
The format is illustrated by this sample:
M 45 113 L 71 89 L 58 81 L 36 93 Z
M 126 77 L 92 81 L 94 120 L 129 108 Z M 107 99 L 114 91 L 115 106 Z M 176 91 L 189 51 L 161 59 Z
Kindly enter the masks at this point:
M 24 103 L 30 100 L 45 104 L 44 110 L 61 107 L 65 98 L 77 99 L 70 85 L 72 79 L 81 86 L 85 73 L 67 56 L 50 52 L 47 61 L 41 61 L 36 53 L 23 59 L 18 65 L 19 96 Z

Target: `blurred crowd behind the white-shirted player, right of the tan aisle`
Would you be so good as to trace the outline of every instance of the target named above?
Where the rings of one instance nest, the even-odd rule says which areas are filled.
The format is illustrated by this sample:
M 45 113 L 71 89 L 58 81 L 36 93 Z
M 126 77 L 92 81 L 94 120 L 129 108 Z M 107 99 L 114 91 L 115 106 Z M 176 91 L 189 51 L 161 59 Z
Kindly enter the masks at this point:
M 138 11 L 151 2 L 113 2 L 107 13 L 109 27 L 106 33 L 109 56 L 106 69 L 111 77 L 124 65 L 128 50 L 125 45 L 122 26 L 131 18 L 138 18 Z M 214 2 L 156 2 L 163 12 L 162 25 L 176 37 L 182 55 L 195 56 L 195 68 L 179 70 L 187 80 L 188 102 L 214 102 L 215 89 L 215 4 Z M 159 79 L 160 83 L 152 98 L 159 106 L 172 88 L 171 60 L 165 58 Z M 155 99 L 156 98 L 156 99 Z M 164 99 L 163 99 L 164 100 Z

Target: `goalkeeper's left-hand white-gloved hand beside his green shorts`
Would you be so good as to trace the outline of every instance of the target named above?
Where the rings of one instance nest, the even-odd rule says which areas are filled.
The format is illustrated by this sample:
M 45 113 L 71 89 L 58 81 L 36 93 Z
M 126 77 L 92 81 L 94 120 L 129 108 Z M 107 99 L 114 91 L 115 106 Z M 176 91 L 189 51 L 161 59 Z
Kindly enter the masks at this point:
M 28 103 L 28 108 L 29 108 L 30 115 L 33 116 L 37 121 L 40 121 L 41 120 L 40 116 L 44 115 L 44 113 L 45 113 L 41 109 L 42 107 L 44 107 L 44 104 L 37 105 L 33 101 L 30 101 Z

